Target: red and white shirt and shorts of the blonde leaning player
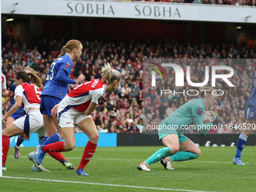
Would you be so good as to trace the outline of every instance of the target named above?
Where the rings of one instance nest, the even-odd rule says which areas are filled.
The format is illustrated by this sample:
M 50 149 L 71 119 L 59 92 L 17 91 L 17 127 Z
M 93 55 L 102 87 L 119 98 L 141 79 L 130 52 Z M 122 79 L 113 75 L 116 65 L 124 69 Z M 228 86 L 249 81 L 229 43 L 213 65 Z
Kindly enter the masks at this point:
M 62 101 L 59 103 L 58 120 L 59 126 L 71 127 L 90 115 L 84 114 L 90 102 L 96 104 L 105 96 L 105 82 L 99 79 L 93 79 L 87 83 L 75 87 Z

